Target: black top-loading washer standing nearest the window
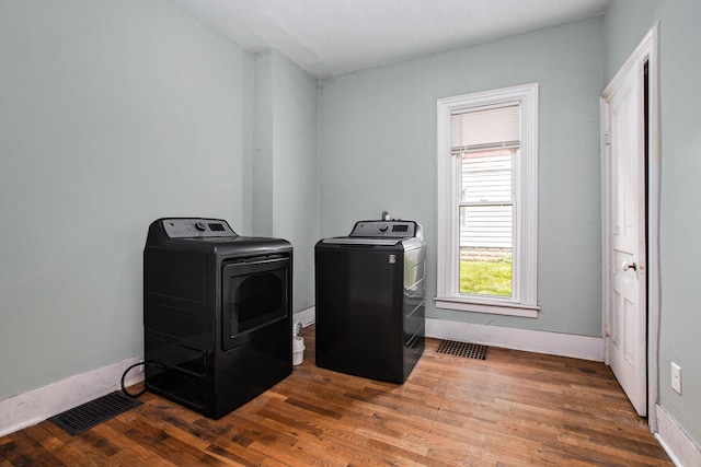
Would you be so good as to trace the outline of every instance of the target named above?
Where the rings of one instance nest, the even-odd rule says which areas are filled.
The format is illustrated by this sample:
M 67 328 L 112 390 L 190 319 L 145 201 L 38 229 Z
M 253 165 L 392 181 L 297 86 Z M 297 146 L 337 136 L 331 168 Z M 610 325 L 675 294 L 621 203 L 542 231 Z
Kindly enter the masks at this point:
M 317 364 L 403 383 L 424 351 L 426 243 L 413 221 L 360 221 L 314 248 Z

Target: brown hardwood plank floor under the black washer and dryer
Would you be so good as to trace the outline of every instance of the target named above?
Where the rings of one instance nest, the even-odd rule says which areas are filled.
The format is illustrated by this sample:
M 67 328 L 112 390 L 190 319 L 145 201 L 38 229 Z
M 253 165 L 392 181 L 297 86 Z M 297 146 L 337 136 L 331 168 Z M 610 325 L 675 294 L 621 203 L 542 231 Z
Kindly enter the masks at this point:
M 671 466 L 602 363 L 491 348 L 424 357 L 405 384 L 314 365 L 220 420 L 152 394 L 71 436 L 51 422 L 0 437 L 0 466 Z

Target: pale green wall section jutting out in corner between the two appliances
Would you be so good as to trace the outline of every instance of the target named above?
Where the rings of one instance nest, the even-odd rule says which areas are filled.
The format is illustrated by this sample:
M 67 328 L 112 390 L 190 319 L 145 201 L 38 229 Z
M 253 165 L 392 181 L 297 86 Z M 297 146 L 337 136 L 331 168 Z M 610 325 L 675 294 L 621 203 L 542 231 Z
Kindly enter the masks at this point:
M 277 50 L 255 56 L 254 235 L 294 248 L 294 308 L 313 306 L 319 236 L 317 80 Z

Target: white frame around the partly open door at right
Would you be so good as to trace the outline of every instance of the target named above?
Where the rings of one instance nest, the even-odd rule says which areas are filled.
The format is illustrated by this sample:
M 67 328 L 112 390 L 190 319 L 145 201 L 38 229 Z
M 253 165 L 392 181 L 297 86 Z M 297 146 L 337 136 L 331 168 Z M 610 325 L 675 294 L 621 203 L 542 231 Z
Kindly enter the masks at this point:
M 610 280 L 610 203 L 611 191 L 609 184 L 608 153 L 608 112 L 607 102 L 613 91 L 620 85 L 623 77 L 637 63 L 647 61 L 647 161 L 646 170 L 641 174 L 641 183 L 645 184 L 647 191 L 647 210 L 645 215 L 645 237 L 647 244 L 647 420 L 652 432 L 657 432 L 656 405 L 659 400 L 659 23 L 647 32 L 643 40 L 637 45 L 633 54 L 616 73 L 611 82 L 606 86 L 599 100 L 600 109 L 600 161 L 601 161 L 601 332 L 605 342 L 605 362 L 609 364 L 611 337 L 609 336 L 609 323 L 611 317 Z M 642 70 L 641 70 L 642 72 Z M 642 117 L 642 116 L 641 116 Z M 642 202 L 645 202 L 642 200 Z

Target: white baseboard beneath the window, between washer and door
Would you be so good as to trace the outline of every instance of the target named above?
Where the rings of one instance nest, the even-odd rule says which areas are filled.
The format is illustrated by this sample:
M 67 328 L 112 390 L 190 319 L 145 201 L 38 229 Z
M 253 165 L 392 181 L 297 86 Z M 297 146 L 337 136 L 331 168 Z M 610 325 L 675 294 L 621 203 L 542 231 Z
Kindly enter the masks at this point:
M 604 361 L 604 338 L 426 318 L 426 337 Z

